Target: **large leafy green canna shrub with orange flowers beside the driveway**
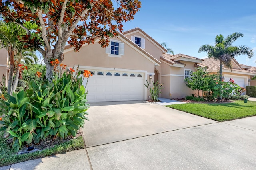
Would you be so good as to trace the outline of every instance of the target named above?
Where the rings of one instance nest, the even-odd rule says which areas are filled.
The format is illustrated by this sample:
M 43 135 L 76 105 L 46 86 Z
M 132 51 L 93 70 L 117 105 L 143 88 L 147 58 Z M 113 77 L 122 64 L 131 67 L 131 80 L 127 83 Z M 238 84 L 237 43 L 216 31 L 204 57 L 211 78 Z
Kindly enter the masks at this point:
M 0 130 L 13 138 L 14 151 L 26 143 L 40 143 L 46 137 L 66 137 L 76 133 L 88 120 L 85 115 L 87 104 L 84 78 L 92 76 L 71 68 L 66 69 L 59 61 L 52 61 L 54 77 L 50 84 L 42 80 L 41 72 L 36 72 L 36 81 L 30 81 L 29 88 L 10 96 L 4 94 L 0 99 Z M 80 76 L 82 75 L 82 76 Z

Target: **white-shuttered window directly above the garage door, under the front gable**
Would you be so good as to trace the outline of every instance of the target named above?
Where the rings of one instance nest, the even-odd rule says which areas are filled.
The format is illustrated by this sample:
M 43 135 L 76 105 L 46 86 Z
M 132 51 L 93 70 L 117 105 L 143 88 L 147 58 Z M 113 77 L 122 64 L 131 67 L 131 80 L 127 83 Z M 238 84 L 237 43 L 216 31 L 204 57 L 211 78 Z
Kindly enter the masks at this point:
M 109 57 L 121 57 L 124 55 L 124 43 L 117 40 L 110 40 L 108 47 L 106 47 L 106 54 Z

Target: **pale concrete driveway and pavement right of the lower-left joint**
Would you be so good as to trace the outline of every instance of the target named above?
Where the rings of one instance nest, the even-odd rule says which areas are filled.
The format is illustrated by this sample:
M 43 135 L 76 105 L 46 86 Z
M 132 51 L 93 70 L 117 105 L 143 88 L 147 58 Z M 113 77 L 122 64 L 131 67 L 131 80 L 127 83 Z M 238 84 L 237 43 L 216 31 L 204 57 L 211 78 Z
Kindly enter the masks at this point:
M 218 123 L 158 104 L 92 103 L 90 168 L 255 169 L 256 117 Z

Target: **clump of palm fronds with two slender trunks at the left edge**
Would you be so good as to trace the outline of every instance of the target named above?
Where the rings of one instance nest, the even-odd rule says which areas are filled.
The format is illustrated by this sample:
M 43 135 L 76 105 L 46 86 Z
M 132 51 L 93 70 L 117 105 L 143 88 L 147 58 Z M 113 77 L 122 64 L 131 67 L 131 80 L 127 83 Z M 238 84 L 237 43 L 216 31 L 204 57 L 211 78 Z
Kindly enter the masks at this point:
M 8 50 L 8 60 L 10 63 L 9 78 L 8 78 L 8 94 L 15 92 L 18 78 L 20 74 L 20 64 L 21 61 L 36 61 L 37 57 L 33 51 L 29 51 L 24 42 L 19 40 L 19 37 L 25 36 L 26 31 L 23 29 L 26 28 L 29 31 L 34 31 L 37 29 L 37 25 L 32 22 L 24 22 L 23 25 L 17 25 L 13 22 L 0 22 L 0 44 L 2 48 Z M 32 32 L 30 33 L 31 37 L 36 37 L 37 35 Z M 31 57 L 32 56 L 32 57 Z M 16 68 L 16 78 L 13 83 L 13 73 L 14 68 Z

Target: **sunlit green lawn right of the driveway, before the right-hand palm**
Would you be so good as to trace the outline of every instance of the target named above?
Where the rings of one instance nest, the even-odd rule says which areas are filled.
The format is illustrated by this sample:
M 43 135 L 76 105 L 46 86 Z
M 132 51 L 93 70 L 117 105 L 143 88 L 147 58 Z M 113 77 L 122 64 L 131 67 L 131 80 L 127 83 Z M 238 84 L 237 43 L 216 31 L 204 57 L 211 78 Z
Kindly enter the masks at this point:
M 235 101 L 232 103 L 188 103 L 168 105 L 173 109 L 185 111 L 194 115 L 206 117 L 216 121 L 229 121 L 256 115 L 256 102 Z

